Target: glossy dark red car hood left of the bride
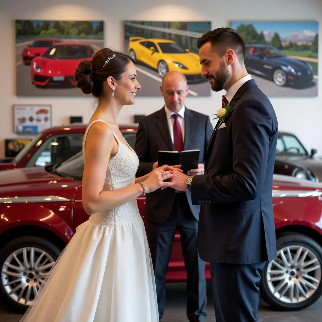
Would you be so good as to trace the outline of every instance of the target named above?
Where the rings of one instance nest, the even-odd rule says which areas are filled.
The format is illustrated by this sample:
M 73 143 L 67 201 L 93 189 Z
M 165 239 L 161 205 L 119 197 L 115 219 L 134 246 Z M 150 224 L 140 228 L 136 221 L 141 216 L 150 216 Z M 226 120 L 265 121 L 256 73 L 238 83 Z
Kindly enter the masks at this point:
M 0 197 L 54 195 L 72 200 L 80 185 L 81 181 L 53 175 L 45 167 L 0 172 Z

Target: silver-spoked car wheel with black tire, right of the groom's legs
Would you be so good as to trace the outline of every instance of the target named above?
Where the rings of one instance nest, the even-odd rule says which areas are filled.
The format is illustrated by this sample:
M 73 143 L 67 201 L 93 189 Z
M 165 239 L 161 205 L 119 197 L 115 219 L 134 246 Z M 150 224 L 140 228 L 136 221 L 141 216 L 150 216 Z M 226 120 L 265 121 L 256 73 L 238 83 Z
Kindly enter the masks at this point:
M 322 295 L 321 246 L 306 235 L 292 232 L 279 235 L 276 245 L 277 257 L 265 265 L 261 275 L 261 298 L 279 311 L 297 311 L 312 305 Z

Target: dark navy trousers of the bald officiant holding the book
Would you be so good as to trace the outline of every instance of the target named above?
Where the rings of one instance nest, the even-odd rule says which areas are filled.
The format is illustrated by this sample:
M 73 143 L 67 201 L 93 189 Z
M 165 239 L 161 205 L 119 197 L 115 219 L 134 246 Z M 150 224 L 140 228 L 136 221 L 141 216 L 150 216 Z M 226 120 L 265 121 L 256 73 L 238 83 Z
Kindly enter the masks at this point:
M 155 271 L 160 318 L 166 303 L 166 272 L 177 230 L 180 233 L 187 271 L 187 317 L 191 322 L 204 322 L 206 318 L 205 262 L 198 255 L 197 229 L 198 221 L 190 210 L 185 193 L 175 194 L 175 202 L 166 222 L 147 222 L 147 238 Z

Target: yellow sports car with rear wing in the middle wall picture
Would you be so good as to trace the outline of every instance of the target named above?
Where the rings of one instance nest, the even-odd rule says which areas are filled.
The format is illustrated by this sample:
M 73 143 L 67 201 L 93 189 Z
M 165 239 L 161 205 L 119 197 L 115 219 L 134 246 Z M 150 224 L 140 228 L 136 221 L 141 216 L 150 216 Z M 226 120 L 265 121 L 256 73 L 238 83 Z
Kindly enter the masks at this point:
M 180 71 L 185 74 L 188 83 L 204 80 L 200 75 L 199 56 L 188 49 L 181 48 L 173 40 L 130 37 L 128 54 L 134 61 L 142 62 L 155 69 L 160 77 L 163 77 L 167 71 Z

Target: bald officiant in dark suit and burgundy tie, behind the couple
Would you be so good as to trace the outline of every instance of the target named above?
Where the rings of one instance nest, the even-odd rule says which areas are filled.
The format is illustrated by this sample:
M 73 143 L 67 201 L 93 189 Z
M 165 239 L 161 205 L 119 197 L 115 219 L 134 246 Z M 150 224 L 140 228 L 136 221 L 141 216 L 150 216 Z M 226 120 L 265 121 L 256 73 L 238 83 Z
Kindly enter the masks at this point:
M 206 150 L 213 132 L 210 119 L 185 107 L 189 86 L 180 72 L 167 72 L 160 89 L 164 107 L 139 122 L 135 143 L 139 158 L 137 176 L 146 175 L 158 166 L 159 150 L 192 149 L 200 150 L 199 164 L 196 169 L 188 171 L 188 175 L 203 175 Z M 146 196 L 147 239 L 155 272 L 160 318 L 165 307 L 166 271 L 177 230 L 187 270 L 187 317 L 191 322 L 203 322 L 206 318 L 205 263 L 197 250 L 199 210 L 199 205 L 192 205 L 190 192 L 158 189 Z

